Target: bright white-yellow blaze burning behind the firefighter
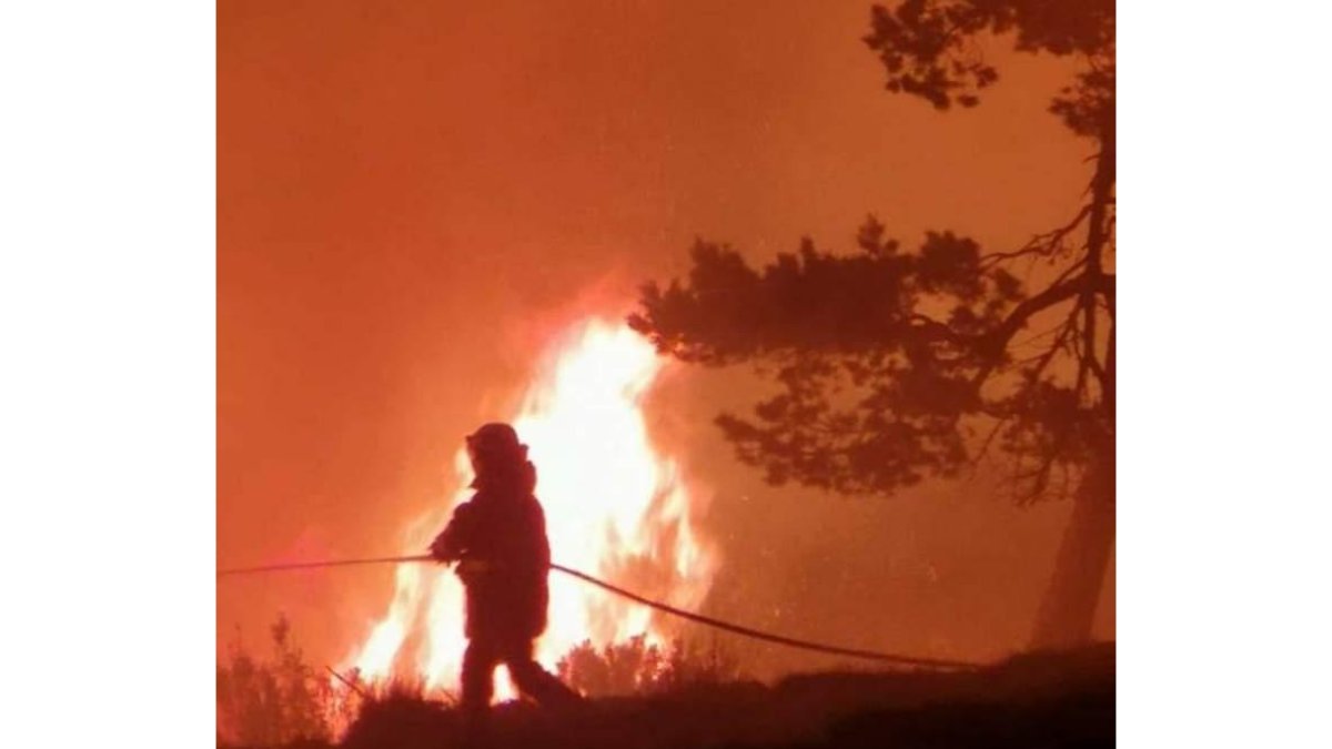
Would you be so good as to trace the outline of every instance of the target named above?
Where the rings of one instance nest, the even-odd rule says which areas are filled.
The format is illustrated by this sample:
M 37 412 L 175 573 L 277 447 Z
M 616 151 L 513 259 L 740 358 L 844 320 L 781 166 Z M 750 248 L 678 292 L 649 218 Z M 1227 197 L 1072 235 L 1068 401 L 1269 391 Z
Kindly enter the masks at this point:
M 681 608 L 707 594 L 718 558 L 693 526 L 702 497 L 678 464 L 658 454 L 642 404 L 666 361 L 621 324 L 591 319 L 551 347 L 518 412 L 509 420 L 537 465 L 537 497 L 555 562 L 595 574 Z M 420 553 L 469 496 L 466 453 L 454 458 L 453 502 L 426 512 L 405 534 Z M 344 668 L 369 681 L 418 678 L 426 689 L 454 689 L 466 641 L 462 586 L 441 568 L 402 565 L 388 612 Z M 665 641 L 651 610 L 558 573 L 550 577 L 550 614 L 537 660 L 554 669 L 573 646 L 603 646 L 645 634 Z M 500 680 L 497 694 L 511 697 Z

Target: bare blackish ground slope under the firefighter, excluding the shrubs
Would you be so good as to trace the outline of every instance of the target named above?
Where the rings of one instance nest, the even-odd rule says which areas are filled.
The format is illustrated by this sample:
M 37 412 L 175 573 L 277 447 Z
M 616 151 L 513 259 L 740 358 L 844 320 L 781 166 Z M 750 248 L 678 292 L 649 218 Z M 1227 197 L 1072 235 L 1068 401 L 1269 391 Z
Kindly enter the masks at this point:
M 345 749 L 466 746 L 458 714 L 396 698 L 370 705 Z M 1114 746 L 1115 646 L 1026 654 L 970 673 L 814 673 L 765 686 L 695 685 L 590 701 L 577 713 L 497 708 L 493 748 Z

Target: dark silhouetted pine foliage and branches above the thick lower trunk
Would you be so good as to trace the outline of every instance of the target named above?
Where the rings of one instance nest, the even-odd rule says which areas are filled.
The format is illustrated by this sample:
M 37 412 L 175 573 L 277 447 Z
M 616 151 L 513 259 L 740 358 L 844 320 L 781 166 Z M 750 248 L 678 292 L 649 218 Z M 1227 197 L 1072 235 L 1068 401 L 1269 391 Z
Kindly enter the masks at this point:
M 781 386 L 753 418 L 718 418 L 771 482 L 891 494 L 999 445 L 1027 501 L 1112 458 L 1114 3 L 906 0 L 874 8 L 866 43 L 890 91 L 946 109 L 999 80 L 978 40 L 1010 32 L 1018 49 L 1087 60 L 1051 103 L 1099 144 L 1088 201 L 1066 225 L 1006 252 L 947 231 L 903 249 L 870 217 L 854 253 L 805 240 L 758 269 L 699 241 L 686 280 L 643 288 L 630 325 L 662 352 L 750 363 Z M 1020 335 L 1035 324 L 1048 329 Z

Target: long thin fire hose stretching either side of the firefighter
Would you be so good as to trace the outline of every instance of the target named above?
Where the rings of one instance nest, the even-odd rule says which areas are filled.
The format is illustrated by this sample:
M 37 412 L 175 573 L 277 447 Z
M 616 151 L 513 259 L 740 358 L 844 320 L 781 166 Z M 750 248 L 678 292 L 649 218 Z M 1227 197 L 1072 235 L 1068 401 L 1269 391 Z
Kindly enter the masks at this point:
M 325 561 L 314 561 L 314 562 L 272 564 L 272 565 L 261 565 L 261 566 L 244 566 L 244 568 L 220 569 L 220 570 L 217 570 L 217 577 L 230 577 L 230 576 L 238 576 L 238 574 L 258 574 L 258 573 L 268 573 L 268 572 L 288 572 L 288 570 L 297 570 L 297 569 L 322 569 L 322 568 L 329 568 L 329 566 L 349 566 L 349 565 L 366 565 L 366 564 L 408 564 L 408 562 L 428 562 L 428 561 L 437 561 L 437 560 L 434 557 L 432 557 L 430 554 L 413 554 L 413 556 L 402 556 L 402 557 L 370 557 L 370 558 L 357 558 L 357 560 L 325 560 Z M 550 569 L 553 569 L 555 572 L 562 572 L 562 573 L 565 573 L 565 574 L 567 574 L 570 577 L 575 577 L 578 580 L 582 580 L 583 582 L 595 585 L 597 588 L 601 588 L 603 590 L 607 590 L 610 593 L 614 593 L 614 594 L 621 596 L 623 598 L 627 598 L 630 601 L 642 604 L 645 606 L 657 609 L 659 612 L 669 613 L 671 616 L 678 616 L 681 618 L 685 618 L 685 620 L 689 620 L 689 621 L 694 621 L 694 622 L 698 622 L 698 624 L 702 624 L 702 625 L 706 625 L 706 626 L 713 626 L 715 629 L 721 629 L 721 630 L 725 630 L 725 632 L 731 632 L 731 633 L 739 634 L 742 637 L 750 637 L 750 638 L 754 638 L 754 640 L 762 640 L 765 642 L 774 642 L 774 644 L 778 644 L 778 645 L 787 645 L 790 648 L 799 648 L 802 650 L 814 650 L 817 653 L 827 653 L 830 656 L 847 656 L 847 657 L 852 657 L 852 658 L 864 658 L 864 660 L 870 660 L 870 661 L 879 661 L 879 662 L 886 662 L 886 664 L 894 664 L 894 665 L 900 665 L 900 666 L 914 666 L 914 668 L 923 668 L 923 669 L 971 670 L 971 669 L 980 668 L 980 664 L 971 664 L 971 662 L 966 662 L 966 661 L 952 661 L 952 660 L 943 660 L 943 658 L 920 658 L 920 657 L 914 657 L 914 656 L 898 656 L 898 654 L 892 654 L 892 653 L 879 653 L 879 652 L 875 652 L 875 650 L 860 650 L 860 649 L 856 649 L 856 648 L 840 648 L 840 646 L 829 645 L 829 644 L 825 644 L 825 642 L 814 642 L 811 640 L 797 640 L 794 637 L 786 637 L 783 634 L 775 634 L 775 633 L 771 633 L 771 632 L 763 632 L 761 629 L 754 629 L 754 628 L 750 628 L 750 626 L 743 626 L 743 625 L 739 625 L 739 624 L 733 624 L 733 622 L 729 622 L 729 621 L 722 621 L 719 618 L 713 618 L 713 617 L 709 617 L 709 616 L 703 616 L 701 613 L 695 613 L 695 612 L 690 612 L 690 610 L 685 610 L 685 609 L 678 609 L 675 606 L 671 606 L 669 604 L 663 604 L 661 601 L 653 601 L 651 598 L 645 598 L 645 597 L 642 597 L 642 596 L 639 596 L 639 594 L 637 594 L 634 592 L 625 590 L 623 588 L 618 588 L 615 585 L 611 585 L 610 582 L 606 582 L 605 580 L 598 580 L 598 578 L 595 578 L 595 577 L 593 577 L 593 576 L 590 576 L 587 573 L 578 572 L 577 569 L 570 569 L 570 568 L 563 566 L 563 565 L 551 564 Z

